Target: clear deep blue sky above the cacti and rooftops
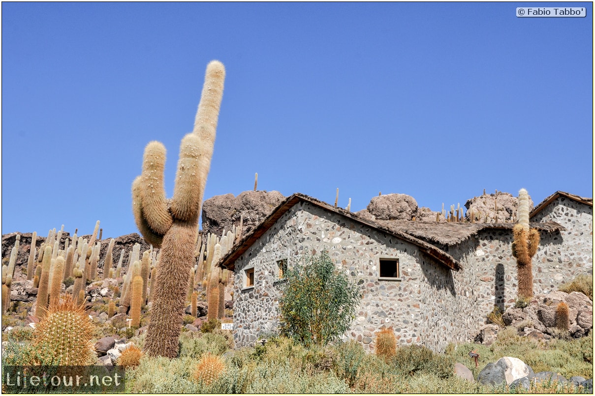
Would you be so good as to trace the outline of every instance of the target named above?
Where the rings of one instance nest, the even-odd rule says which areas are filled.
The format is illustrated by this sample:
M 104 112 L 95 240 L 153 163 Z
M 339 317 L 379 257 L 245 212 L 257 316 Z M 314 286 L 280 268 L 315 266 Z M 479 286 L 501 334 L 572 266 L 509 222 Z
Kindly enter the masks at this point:
M 587 8 L 518 18 L 516 7 Z M 152 140 L 226 83 L 205 199 L 258 188 L 352 211 L 526 188 L 593 197 L 591 3 L 2 3 L 2 233 L 138 232 Z

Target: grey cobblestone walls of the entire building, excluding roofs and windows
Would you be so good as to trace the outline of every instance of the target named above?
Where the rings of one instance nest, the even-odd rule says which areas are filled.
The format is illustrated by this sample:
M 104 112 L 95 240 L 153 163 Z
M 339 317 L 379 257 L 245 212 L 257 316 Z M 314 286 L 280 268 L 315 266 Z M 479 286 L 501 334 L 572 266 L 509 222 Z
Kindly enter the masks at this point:
M 593 273 L 593 247 L 584 237 L 591 232 L 592 220 L 579 209 L 568 217 L 583 230 L 541 232 L 533 258 L 535 293 L 556 290 L 577 274 Z M 571 229 L 569 224 L 565 227 Z M 516 260 L 511 245 L 512 230 L 484 229 L 456 246 L 439 246 L 461 262 L 462 269 L 453 271 L 412 243 L 301 202 L 235 263 L 236 346 L 252 346 L 259 335 L 277 330 L 277 261 L 287 259 L 292 265 L 305 254 L 327 249 L 363 294 L 344 340 L 357 340 L 371 351 L 375 332 L 392 326 L 399 344 L 423 344 L 442 351 L 450 341 L 473 338 L 494 305 L 504 311 L 515 302 Z M 381 257 L 399 258 L 400 280 L 378 279 Z M 243 289 L 246 268 L 254 268 L 255 285 Z

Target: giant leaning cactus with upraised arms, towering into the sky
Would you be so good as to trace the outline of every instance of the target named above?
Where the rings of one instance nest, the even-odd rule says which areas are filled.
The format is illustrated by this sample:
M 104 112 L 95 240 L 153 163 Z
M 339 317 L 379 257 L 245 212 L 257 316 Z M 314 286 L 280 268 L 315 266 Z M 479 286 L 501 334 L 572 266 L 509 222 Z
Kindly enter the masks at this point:
M 188 274 L 194 261 L 196 230 L 211 166 L 224 77 L 221 62 L 208 64 L 193 132 L 181 141 L 173 198 L 165 198 L 165 147 L 159 142 L 146 146 L 142 174 L 132 184 L 137 227 L 147 242 L 161 247 L 153 312 L 145 342 L 148 356 L 171 358 L 178 353 Z

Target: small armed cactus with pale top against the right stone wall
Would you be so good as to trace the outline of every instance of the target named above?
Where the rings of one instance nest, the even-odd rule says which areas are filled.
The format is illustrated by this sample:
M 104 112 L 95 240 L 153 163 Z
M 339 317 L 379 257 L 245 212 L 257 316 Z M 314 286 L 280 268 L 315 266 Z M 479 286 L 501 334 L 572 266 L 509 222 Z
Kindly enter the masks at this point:
M 539 232 L 529 228 L 529 195 L 522 188 L 519 191 L 518 223 L 512 229 L 512 255 L 516 258 L 518 296 L 533 297 L 533 267 L 531 258 L 539 247 Z

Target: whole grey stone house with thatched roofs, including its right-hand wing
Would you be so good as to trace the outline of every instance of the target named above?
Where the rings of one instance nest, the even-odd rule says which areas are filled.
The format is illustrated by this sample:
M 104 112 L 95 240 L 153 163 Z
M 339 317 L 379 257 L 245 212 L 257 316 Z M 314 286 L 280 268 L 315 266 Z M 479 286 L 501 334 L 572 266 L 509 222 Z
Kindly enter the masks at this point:
M 541 235 L 533 258 L 536 293 L 593 273 L 592 200 L 556 194 L 531 213 Z M 562 226 L 555 222 L 560 216 L 576 221 Z M 472 339 L 495 305 L 515 300 L 513 225 L 373 220 L 294 194 L 220 261 L 234 273 L 236 346 L 252 346 L 277 329 L 283 268 L 322 249 L 361 287 L 345 340 L 372 350 L 374 333 L 389 326 L 399 344 L 436 351 Z

